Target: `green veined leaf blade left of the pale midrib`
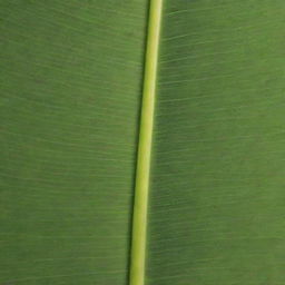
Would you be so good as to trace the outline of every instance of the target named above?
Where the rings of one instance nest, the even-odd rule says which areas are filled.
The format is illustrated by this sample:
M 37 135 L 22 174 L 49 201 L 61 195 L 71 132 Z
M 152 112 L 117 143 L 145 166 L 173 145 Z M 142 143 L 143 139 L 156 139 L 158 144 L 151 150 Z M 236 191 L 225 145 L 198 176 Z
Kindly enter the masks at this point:
M 0 14 L 0 284 L 126 284 L 147 3 Z

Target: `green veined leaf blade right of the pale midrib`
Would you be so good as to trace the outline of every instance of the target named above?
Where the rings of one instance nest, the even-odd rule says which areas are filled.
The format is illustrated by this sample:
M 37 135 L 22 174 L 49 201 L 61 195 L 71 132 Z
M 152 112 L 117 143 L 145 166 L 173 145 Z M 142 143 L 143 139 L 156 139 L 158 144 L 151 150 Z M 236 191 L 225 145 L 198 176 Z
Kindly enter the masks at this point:
M 165 1 L 149 285 L 285 284 L 284 11 Z

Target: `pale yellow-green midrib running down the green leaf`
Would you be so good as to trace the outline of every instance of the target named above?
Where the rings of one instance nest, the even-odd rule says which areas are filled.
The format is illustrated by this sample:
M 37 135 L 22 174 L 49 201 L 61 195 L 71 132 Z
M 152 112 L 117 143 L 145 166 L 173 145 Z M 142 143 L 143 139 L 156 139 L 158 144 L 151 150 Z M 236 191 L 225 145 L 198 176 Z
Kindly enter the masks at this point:
M 138 141 L 132 236 L 130 253 L 130 285 L 145 285 L 147 205 L 154 129 L 158 45 L 163 0 L 150 0 L 145 58 L 141 117 Z

